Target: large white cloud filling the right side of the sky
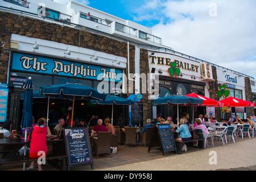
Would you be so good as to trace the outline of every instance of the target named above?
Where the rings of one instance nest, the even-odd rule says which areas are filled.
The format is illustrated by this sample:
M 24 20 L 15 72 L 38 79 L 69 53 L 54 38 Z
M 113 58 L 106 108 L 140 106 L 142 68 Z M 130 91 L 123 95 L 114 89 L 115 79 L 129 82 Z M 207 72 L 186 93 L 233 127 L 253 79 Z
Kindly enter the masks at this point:
M 149 1 L 141 7 L 140 15 L 152 14 L 144 10 L 153 7 L 155 2 Z M 217 17 L 210 17 L 210 3 L 216 3 Z M 152 27 L 164 45 L 256 77 L 256 1 L 162 1 L 161 7 L 165 18 L 174 19 L 174 22 L 160 22 Z

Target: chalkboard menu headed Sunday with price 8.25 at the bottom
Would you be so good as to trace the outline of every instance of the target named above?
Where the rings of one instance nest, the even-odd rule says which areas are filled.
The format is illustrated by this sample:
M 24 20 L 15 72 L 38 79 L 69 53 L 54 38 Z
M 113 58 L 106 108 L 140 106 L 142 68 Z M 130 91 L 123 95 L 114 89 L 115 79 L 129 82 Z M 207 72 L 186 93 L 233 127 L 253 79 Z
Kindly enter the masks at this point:
M 91 165 L 93 156 L 87 127 L 65 129 L 65 144 L 69 167 Z

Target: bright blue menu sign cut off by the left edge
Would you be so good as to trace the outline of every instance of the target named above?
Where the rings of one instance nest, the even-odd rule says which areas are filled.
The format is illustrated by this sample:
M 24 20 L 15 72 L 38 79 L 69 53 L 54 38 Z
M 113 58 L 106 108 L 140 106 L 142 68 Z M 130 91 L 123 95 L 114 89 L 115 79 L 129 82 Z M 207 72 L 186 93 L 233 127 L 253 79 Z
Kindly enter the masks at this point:
M 0 83 L 0 122 L 7 119 L 8 93 L 8 85 Z

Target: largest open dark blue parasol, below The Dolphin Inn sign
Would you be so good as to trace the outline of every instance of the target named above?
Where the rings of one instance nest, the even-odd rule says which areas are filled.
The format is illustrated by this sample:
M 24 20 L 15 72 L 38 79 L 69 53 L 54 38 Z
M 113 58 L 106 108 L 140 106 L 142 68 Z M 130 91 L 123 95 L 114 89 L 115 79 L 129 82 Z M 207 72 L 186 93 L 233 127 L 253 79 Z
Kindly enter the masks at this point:
M 40 94 L 54 98 L 70 98 L 87 100 L 105 100 L 106 94 L 99 93 L 96 89 L 82 84 L 59 84 L 42 86 Z

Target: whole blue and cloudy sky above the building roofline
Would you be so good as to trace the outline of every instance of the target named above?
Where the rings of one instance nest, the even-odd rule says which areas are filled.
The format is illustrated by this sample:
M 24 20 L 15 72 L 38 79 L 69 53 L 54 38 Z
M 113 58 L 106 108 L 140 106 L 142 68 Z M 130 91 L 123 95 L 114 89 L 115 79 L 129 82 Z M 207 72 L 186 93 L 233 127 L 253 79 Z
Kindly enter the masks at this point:
M 165 46 L 256 78 L 255 0 L 77 0 L 150 27 Z

